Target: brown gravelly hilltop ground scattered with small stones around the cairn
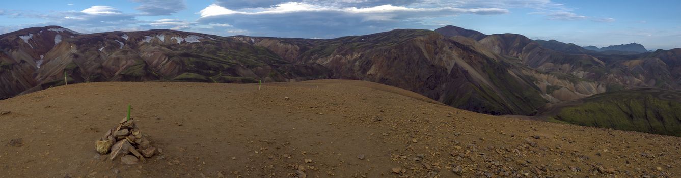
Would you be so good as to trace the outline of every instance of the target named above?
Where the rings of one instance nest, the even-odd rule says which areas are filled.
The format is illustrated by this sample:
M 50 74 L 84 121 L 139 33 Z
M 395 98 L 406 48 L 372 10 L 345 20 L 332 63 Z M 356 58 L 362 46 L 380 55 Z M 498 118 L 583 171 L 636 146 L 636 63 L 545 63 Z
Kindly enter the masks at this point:
M 679 177 L 681 138 L 501 118 L 347 80 L 62 86 L 0 101 L 0 177 Z M 125 117 L 157 155 L 93 144 Z

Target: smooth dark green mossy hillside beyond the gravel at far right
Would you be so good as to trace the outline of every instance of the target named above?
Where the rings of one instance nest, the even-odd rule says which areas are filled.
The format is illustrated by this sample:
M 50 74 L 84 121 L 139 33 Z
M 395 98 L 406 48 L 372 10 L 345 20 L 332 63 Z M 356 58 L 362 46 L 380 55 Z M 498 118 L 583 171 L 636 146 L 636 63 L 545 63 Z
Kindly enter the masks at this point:
M 681 136 L 681 92 L 620 90 L 565 107 L 553 118 L 571 124 Z

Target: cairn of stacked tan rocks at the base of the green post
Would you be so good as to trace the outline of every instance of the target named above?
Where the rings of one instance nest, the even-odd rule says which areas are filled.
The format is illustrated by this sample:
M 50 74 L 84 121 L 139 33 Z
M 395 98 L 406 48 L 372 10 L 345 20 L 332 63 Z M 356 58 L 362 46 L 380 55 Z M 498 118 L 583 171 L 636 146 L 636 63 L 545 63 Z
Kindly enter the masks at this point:
M 121 158 L 123 164 L 137 164 L 151 158 L 156 151 L 136 126 L 135 120 L 123 118 L 118 126 L 106 132 L 95 143 L 99 154 L 109 154 L 110 160 Z

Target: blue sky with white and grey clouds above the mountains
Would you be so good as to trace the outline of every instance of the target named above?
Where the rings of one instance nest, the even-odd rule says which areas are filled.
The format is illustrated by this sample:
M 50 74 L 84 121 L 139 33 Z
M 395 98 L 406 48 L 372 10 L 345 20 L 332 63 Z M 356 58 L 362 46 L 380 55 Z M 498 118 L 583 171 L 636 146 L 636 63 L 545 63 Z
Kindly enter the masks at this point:
M 173 29 L 330 39 L 460 26 L 579 46 L 681 48 L 678 0 L 21 0 L 3 1 L 0 33 L 58 25 L 80 33 Z

